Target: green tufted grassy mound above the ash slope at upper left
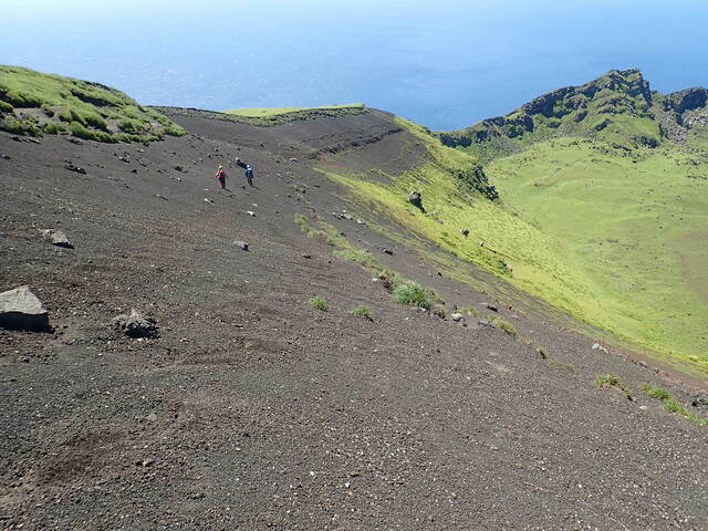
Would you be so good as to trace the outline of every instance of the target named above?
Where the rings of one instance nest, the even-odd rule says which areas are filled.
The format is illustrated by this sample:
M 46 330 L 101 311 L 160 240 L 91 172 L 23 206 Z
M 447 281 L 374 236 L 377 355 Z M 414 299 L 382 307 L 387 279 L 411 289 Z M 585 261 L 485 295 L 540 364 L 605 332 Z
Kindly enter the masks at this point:
M 98 142 L 158 140 L 186 132 L 126 94 L 87 81 L 0 65 L 0 129 Z

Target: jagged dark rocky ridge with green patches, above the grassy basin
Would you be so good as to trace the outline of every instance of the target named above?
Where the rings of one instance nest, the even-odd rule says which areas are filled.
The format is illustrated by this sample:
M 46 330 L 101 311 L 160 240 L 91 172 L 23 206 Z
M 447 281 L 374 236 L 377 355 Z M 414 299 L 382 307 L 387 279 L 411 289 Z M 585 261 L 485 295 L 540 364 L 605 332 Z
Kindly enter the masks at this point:
M 589 136 L 627 146 L 683 142 L 691 127 L 708 125 L 708 91 L 652 91 L 638 69 L 613 70 L 580 86 L 543 94 L 506 116 L 439 133 L 447 146 L 486 145 L 497 152 L 554 136 Z

